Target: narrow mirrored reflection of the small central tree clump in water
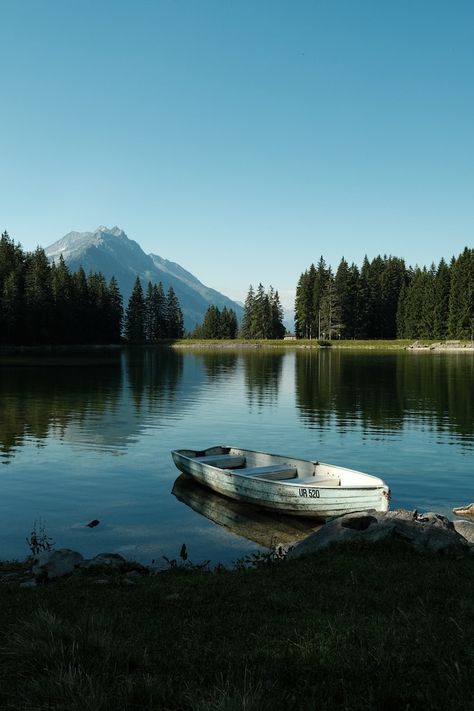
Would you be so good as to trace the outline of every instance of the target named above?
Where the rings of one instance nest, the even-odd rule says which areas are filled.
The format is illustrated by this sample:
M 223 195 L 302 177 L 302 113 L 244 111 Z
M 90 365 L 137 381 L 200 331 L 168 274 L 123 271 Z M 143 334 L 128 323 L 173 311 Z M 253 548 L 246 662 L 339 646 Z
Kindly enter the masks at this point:
M 242 353 L 245 389 L 250 406 L 262 408 L 277 403 L 284 357 L 284 352 L 274 349 Z

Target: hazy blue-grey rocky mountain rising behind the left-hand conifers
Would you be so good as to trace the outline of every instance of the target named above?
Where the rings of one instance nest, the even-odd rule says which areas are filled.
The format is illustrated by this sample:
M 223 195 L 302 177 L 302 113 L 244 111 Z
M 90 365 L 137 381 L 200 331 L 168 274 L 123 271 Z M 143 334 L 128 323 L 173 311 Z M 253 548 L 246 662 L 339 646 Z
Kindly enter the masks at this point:
M 94 232 L 69 232 L 65 237 L 46 247 L 51 261 L 62 254 L 68 267 L 75 271 L 80 266 L 84 271 L 102 272 L 107 281 L 117 279 L 124 306 L 127 305 L 133 284 L 140 277 L 144 290 L 148 282 L 161 281 L 165 292 L 173 287 L 183 310 L 184 326 L 192 330 L 202 323 L 208 307 L 233 309 L 240 320 L 243 308 L 224 294 L 202 284 L 193 274 L 175 262 L 157 254 L 145 254 L 140 245 L 129 239 L 118 227 L 98 227 Z

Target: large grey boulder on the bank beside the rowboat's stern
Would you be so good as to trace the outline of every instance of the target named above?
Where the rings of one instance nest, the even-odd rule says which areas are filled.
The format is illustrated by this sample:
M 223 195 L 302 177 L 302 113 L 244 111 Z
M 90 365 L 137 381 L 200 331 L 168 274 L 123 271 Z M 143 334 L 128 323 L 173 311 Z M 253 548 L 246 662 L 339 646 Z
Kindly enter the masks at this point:
M 433 512 L 363 511 L 329 520 L 319 531 L 310 534 L 289 551 L 297 558 L 324 550 L 330 545 L 348 542 L 403 540 L 423 553 L 465 555 L 472 548 L 451 521 Z

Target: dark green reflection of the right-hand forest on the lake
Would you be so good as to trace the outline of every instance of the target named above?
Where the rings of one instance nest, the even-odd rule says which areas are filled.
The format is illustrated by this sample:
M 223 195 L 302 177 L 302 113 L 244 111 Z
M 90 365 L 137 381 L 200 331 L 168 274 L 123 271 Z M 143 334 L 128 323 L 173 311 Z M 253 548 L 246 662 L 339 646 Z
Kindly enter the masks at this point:
M 308 427 L 400 430 L 415 419 L 461 439 L 474 432 L 474 360 L 427 353 L 296 354 L 296 405 Z

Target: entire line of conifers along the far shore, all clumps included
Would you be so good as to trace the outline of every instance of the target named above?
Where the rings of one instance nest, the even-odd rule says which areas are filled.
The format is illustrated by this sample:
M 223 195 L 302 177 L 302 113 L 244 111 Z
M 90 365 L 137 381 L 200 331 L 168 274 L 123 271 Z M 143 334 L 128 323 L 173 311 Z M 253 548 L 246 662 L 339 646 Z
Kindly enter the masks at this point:
M 449 263 L 407 267 L 403 259 L 343 258 L 333 273 L 323 257 L 301 274 L 295 300 L 298 338 L 471 339 L 474 335 L 474 249 Z M 192 338 L 281 339 L 278 291 L 250 286 L 239 326 L 232 309 L 209 306 Z M 24 252 L 0 237 L 0 345 L 154 343 L 184 336 L 183 313 L 170 287 L 137 277 L 127 307 L 114 277 L 71 272 L 62 257 Z

